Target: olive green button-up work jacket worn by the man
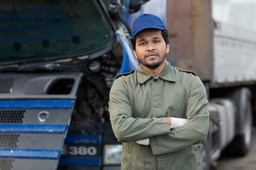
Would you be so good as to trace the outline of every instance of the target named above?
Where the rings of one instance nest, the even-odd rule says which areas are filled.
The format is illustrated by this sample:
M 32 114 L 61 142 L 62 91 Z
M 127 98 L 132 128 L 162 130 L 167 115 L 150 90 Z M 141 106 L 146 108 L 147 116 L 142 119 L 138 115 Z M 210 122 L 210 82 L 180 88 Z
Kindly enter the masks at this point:
M 201 80 L 168 62 L 158 76 L 142 67 L 118 75 L 110 90 L 109 112 L 123 151 L 136 146 L 149 147 L 152 155 L 177 152 L 203 142 L 209 128 L 208 100 Z M 170 130 L 167 117 L 188 122 Z M 134 142 L 147 138 L 150 146 Z

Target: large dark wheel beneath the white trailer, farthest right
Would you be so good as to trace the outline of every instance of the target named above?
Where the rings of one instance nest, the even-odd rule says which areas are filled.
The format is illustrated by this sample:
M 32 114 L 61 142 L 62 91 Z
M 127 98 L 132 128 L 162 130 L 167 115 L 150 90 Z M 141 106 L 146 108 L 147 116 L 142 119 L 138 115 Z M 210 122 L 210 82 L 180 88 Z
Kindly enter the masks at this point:
M 240 88 L 233 95 L 236 104 L 236 133 L 234 140 L 227 146 L 225 153 L 247 155 L 252 144 L 252 105 L 251 95 L 247 88 Z

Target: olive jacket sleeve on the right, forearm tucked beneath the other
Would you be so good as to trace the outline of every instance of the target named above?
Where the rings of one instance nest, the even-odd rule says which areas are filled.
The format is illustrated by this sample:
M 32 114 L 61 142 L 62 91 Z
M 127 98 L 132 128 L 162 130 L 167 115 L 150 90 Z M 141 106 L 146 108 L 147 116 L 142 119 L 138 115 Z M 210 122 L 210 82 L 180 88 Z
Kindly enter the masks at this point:
M 166 135 L 151 137 L 150 146 L 154 155 L 175 152 L 207 138 L 209 112 L 206 90 L 199 77 L 191 80 L 189 98 L 186 104 L 188 122 L 171 130 Z

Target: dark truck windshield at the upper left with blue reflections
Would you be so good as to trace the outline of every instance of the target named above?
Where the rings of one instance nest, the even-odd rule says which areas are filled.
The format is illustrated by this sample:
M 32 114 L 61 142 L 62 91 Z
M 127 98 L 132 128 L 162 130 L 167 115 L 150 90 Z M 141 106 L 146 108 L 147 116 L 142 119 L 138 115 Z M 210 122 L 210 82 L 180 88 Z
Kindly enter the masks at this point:
M 87 55 L 112 44 L 96 0 L 0 0 L 0 62 Z

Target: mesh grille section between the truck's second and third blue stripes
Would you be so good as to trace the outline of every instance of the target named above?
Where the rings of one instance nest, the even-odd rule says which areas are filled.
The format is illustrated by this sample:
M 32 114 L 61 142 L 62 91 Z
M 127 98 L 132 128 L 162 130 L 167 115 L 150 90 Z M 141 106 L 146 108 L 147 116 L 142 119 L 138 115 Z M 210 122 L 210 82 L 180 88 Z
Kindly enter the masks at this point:
M 19 134 L 0 134 L 0 148 L 17 148 Z

